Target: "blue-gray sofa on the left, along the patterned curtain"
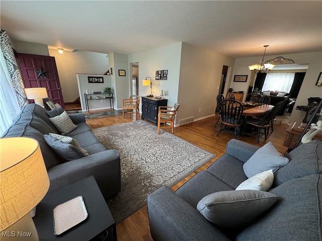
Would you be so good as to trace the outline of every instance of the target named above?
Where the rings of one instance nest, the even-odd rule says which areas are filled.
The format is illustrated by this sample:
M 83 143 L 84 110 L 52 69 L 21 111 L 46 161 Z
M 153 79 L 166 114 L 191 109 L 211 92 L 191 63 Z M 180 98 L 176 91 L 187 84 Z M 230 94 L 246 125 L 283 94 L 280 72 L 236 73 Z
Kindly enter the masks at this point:
M 46 143 L 44 135 L 60 133 L 50 122 L 46 110 L 37 104 L 25 105 L 2 138 L 30 137 L 38 141 L 50 180 L 48 192 L 93 175 L 106 199 L 115 195 L 121 188 L 118 153 L 106 150 L 99 143 L 86 124 L 83 113 L 71 113 L 69 117 L 77 128 L 66 136 L 74 138 L 89 156 L 67 161 L 57 155 Z

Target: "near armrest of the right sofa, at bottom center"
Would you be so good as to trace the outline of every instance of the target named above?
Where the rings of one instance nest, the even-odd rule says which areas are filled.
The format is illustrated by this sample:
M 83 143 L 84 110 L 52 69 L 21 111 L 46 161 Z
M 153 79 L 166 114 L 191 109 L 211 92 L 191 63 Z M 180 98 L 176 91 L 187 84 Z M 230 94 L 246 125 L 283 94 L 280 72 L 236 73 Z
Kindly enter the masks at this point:
M 147 197 L 151 235 L 157 240 L 230 240 L 169 187 Z

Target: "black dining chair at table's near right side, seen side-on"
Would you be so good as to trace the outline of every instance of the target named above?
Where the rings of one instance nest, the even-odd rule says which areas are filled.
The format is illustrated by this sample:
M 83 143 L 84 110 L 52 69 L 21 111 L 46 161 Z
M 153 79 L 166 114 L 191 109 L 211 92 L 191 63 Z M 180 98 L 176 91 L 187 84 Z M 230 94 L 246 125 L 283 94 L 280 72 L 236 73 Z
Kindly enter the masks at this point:
M 255 117 L 249 117 L 249 116 L 245 118 L 246 125 L 251 125 L 257 128 L 257 143 L 259 143 L 259 140 L 260 140 L 261 129 L 264 129 L 265 140 L 267 139 L 271 121 L 280 110 L 282 104 L 283 102 L 277 103 L 267 114 L 264 115 L 263 118 L 258 118 L 258 117 L 255 118 Z M 248 135 L 251 135 L 251 134 L 248 133 Z

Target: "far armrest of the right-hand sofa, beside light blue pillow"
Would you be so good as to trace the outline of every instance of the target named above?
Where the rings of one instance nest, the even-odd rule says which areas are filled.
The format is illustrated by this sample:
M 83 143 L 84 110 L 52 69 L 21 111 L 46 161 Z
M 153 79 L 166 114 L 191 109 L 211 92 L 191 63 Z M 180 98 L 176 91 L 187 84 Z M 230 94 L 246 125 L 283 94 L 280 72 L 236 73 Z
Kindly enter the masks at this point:
M 231 139 L 227 143 L 226 154 L 229 154 L 242 162 L 247 162 L 247 160 L 250 159 L 258 149 L 259 147 L 257 146 Z

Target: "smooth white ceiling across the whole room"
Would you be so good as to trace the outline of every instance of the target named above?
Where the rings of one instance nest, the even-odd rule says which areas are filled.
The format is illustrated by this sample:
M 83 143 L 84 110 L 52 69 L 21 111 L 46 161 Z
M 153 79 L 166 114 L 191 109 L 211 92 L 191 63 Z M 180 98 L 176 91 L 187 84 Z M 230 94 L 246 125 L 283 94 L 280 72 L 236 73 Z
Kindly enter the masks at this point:
M 322 51 L 322 1 L 1 1 L 11 39 L 136 53 L 186 42 L 234 58 Z

